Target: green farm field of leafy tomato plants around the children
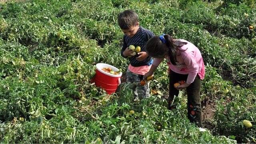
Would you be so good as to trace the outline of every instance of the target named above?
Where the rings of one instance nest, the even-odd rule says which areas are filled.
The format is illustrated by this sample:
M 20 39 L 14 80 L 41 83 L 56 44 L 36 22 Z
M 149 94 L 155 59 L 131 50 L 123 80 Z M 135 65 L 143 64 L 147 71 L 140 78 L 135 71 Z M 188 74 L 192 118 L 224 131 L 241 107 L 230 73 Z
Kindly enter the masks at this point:
M 189 122 L 185 90 L 168 110 L 165 62 L 139 102 L 130 84 L 108 95 L 91 83 L 97 63 L 125 81 L 117 16 L 126 9 L 202 52 L 206 131 Z M 256 143 L 255 27 L 255 0 L 1 1 L 0 143 Z

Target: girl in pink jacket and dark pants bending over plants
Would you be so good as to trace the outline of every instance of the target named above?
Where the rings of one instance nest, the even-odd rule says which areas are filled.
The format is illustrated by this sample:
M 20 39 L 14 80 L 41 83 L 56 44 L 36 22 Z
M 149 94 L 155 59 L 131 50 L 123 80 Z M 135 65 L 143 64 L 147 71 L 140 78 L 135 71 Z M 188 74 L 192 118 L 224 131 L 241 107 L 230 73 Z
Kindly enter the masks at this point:
M 179 90 L 186 88 L 188 119 L 198 127 L 201 127 L 200 89 L 205 70 L 204 61 L 198 48 L 186 40 L 176 40 L 168 34 L 163 34 L 161 36 L 154 36 L 148 40 L 146 52 L 154 58 L 154 62 L 149 72 L 144 75 L 144 79 L 154 74 L 154 71 L 162 60 L 167 58 L 170 68 L 168 108 L 173 108 L 171 103 L 174 95 L 178 96 Z M 174 87 L 174 84 L 181 80 L 186 82 Z

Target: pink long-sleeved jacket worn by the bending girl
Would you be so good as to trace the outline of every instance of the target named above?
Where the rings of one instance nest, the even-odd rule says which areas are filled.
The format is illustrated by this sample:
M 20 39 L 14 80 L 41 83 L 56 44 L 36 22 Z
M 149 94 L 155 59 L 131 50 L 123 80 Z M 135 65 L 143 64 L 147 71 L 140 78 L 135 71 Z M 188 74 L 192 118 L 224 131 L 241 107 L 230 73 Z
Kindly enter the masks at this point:
M 194 82 L 196 75 L 200 77 L 201 80 L 204 79 L 205 74 L 205 68 L 204 68 L 204 61 L 201 55 L 201 52 L 198 50 L 198 48 L 192 44 L 191 42 L 188 42 L 186 40 L 180 39 L 182 42 L 187 42 L 188 44 L 182 46 L 177 51 L 177 65 L 173 65 L 170 62 L 169 56 L 168 58 L 168 65 L 169 68 L 179 74 L 188 74 L 188 78 L 186 80 L 186 83 L 191 84 Z M 182 51 L 185 50 L 185 51 Z M 154 58 L 153 65 L 158 66 L 164 58 Z

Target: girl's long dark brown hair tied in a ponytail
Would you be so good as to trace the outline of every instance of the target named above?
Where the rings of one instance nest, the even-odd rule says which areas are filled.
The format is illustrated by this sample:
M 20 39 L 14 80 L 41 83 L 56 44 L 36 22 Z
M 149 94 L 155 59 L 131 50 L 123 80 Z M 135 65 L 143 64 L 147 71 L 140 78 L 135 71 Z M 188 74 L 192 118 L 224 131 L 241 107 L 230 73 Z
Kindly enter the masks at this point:
M 162 58 L 166 55 L 169 56 L 173 65 L 176 65 L 177 50 L 187 42 L 174 40 L 169 34 L 164 35 L 166 43 L 163 43 L 159 36 L 154 36 L 146 43 L 146 51 L 149 56 L 153 58 Z

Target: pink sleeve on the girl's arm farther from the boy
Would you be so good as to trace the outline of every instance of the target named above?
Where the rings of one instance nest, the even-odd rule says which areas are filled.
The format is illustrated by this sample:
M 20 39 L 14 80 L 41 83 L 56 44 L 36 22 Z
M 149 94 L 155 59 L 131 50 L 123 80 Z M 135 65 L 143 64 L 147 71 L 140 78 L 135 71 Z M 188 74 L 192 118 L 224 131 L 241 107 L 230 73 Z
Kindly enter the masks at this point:
M 199 66 L 193 54 L 187 54 L 184 56 L 184 63 L 186 64 L 189 71 L 186 83 L 191 84 L 194 82 L 196 75 L 198 74 Z

